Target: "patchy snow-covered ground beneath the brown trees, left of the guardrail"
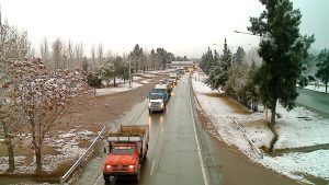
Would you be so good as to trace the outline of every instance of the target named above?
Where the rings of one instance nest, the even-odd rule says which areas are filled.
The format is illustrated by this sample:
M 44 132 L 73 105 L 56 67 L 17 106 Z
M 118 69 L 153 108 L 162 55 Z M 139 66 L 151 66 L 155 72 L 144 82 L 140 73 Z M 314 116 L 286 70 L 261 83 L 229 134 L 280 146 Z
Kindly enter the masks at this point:
M 50 147 L 56 150 L 56 154 L 43 155 L 43 172 L 54 173 L 59 165 L 68 163 L 71 165 L 87 150 L 86 147 L 80 147 L 79 142 L 91 142 L 98 134 L 89 130 L 71 129 L 67 134 L 54 131 L 45 141 L 44 147 Z M 30 140 L 31 135 L 27 135 L 24 140 Z M 87 146 L 88 147 L 88 146 Z M 14 174 L 33 174 L 35 171 L 35 161 L 27 159 L 25 155 L 15 157 L 16 170 Z M 0 157 L 0 174 L 5 173 L 8 169 L 8 157 Z M 0 183 L 1 184 L 1 183 Z

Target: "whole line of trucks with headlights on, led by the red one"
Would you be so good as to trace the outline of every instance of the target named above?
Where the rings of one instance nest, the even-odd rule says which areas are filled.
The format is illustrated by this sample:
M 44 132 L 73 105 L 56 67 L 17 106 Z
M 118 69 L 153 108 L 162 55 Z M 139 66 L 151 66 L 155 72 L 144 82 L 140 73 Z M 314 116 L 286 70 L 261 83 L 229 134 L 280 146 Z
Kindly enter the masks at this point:
M 166 109 L 172 89 L 183 73 L 184 69 L 170 73 L 149 92 L 150 113 Z M 111 183 L 115 177 L 133 178 L 138 183 L 141 164 L 148 151 L 149 126 L 121 126 L 117 131 L 107 135 L 106 141 L 104 152 L 107 153 L 107 158 L 103 167 L 105 183 Z

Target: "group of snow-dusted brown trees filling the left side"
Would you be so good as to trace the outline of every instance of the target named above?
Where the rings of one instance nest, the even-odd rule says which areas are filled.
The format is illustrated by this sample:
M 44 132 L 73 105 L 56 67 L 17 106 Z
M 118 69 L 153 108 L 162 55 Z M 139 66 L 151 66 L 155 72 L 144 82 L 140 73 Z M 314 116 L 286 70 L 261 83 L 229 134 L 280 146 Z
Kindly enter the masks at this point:
M 31 58 L 26 32 L 0 21 L 0 128 L 8 148 L 9 171 L 15 169 L 14 146 L 30 132 L 42 172 L 42 148 L 46 135 L 61 117 L 89 105 L 94 91 L 87 84 L 86 72 L 77 69 L 47 68 Z M 54 51 L 55 53 L 55 51 Z

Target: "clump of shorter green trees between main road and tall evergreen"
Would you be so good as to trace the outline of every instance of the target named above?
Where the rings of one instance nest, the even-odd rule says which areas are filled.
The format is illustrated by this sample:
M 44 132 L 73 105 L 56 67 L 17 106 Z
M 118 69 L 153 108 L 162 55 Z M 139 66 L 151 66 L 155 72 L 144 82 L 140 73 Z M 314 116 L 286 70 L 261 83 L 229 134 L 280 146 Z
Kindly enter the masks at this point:
M 208 48 L 202 56 L 200 66 L 208 74 L 207 84 L 212 89 L 222 89 L 228 95 L 235 97 L 243 105 L 257 111 L 258 91 L 254 86 L 254 73 L 257 66 L 254 60 L 247 62 L 246 53 L 238 47 L 235 54 L 224 42 L 223 54 L 219 56 Z

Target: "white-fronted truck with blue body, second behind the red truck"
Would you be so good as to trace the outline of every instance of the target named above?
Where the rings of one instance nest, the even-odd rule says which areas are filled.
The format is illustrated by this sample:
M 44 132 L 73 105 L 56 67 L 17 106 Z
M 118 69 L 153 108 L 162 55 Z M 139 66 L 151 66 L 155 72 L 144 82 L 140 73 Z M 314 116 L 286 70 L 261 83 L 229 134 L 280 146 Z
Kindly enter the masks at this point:
M 152 112 L 164 112 L 166 104 L 169 100 L 168 95 L 168 86 L 167 84 L 156 84 L 155 89 L 152 89 L 148 94 L 148 111 Z

